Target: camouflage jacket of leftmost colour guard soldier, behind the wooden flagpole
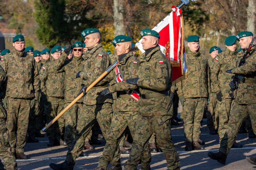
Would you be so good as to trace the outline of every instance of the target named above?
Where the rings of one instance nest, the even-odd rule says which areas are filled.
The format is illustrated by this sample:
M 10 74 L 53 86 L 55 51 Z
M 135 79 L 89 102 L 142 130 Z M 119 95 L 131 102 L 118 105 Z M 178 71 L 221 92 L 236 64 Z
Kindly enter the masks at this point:
M 98 44 L 90 51 L 87 50 L 82 55 L 84 58 L 84 71 L 80 73 L 81 78 L 84 80 L 82 84 L 88 87 L 97 77 L 102 75 L 106 69 L 110 66 L 110 58 L 107 52 L 102 47 L 102 44 Z M 97 83 L 87 95 L 84 97 L 84 104 L 95 105 L 101 103 L 113 104 L 112 95 L 101 96 L 100 92 L 107 88 L 107 82 L 101 80 Z M 109 113 L 110 114 L 112 110 Z

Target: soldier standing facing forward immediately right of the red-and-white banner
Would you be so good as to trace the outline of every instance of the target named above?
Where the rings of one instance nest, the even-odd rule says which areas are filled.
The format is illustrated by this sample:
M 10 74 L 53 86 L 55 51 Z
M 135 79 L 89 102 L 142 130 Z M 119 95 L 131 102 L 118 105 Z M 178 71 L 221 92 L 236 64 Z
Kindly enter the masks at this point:
M 210 92 L 210 72 L 207 58 L 200 53 L 199 36 L 187 38 L 189 49 L 186 52 L 187 78 L 176 84 L 184 118 L 186 151 L 205 149 L 199 143 L 200 121 L 207 106 Z M 193 148 L 192 148 L 193 144 Z

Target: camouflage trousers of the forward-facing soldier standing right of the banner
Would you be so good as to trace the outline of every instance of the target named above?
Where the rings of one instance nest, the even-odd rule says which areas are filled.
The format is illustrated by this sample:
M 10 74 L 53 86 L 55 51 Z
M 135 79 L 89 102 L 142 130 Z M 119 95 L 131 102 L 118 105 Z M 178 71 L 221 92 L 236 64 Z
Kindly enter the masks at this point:
M 185 142 L 198 141 L 207 98 L 186 98 L 182 107 Z

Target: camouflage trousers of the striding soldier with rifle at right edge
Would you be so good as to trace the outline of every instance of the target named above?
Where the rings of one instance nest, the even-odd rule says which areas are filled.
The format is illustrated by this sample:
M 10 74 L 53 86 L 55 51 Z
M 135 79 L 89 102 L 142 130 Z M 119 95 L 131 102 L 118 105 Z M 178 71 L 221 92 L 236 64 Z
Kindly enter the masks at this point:
M 252 122 L 252 129 L 254 134 L 256 134 L 256 103 L 254 104 L 237 104 L 234 102 L 230 112 L 230 119 L 228 121 L 228 126 L 222 140 L 220 141 L 219 152 L 228 155 L 231 146 L 233 145 L 241 123 L 245 120 L 246 116 L 249 114 Z

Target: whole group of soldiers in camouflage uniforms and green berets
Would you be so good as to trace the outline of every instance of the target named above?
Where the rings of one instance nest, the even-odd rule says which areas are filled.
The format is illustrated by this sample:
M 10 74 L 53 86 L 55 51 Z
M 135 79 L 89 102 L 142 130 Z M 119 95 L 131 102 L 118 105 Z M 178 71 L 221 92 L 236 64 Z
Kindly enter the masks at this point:
M 46 130 L 47 146 L 68 149 L 63 163 L 49 165 L 54 170 L 74 169 L 76 158 L 87 156 L 84 149 L 101 143 L 98 138 L 105 138 L 106 145 L 94 170 L 106 170 L 110 163 L 108 169 L 122 170 L 120 153 L 130 153 L 124 169 L 141 164 L 149 170 L 151 152 L 157 150 L 163 152 L 168 169 L 180 169 L 171 134 L 175 120 L 180 121 L 178 100 L 186 151 L 205 149 L 200 139 L 204 116 L 209 134 L 219 134 L 219 152 L 208 152 L 219 163 L 225 164 L 231 147 L 243 147 L 235 141 L 239 131 L 256 137 L 256 48 L 251 32 L 227 37 L 226 49 L 213 46 L 209 56 L 200 53 L 200 37 L 189 36 L 187 78 L 177 84 L 172 84 L 172 64 L 158 45 L 159 33 L 144 29 L 140 35 L 145 52 L 138 57 L 126 35 L 113 39 L 115 52 L 106 52 L 96 28 L 82 31 L 84 43 L 41 52 L 25 48 L 24 36 L 16 35 L 12 52 L 1 51 L 0 61 L 0 156 L 5 168 L 17 169 L 17 158 L 28 159 L 25 144 L 44 137 L 40 129 L 79 95 L 83 97 Z M 106 70 L 108 74 L 88 88 Z M 255 157 L 246 159 L 256 164 Z

